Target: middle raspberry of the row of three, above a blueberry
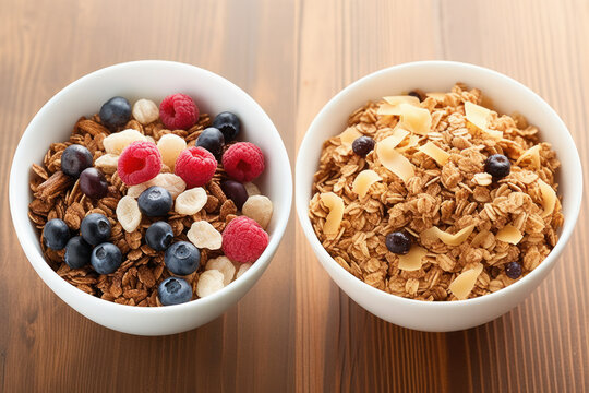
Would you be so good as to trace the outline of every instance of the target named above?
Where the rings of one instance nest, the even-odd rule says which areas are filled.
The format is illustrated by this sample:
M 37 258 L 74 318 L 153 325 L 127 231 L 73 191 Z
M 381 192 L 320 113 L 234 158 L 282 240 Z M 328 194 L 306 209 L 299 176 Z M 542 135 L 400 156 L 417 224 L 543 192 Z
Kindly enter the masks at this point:
M 187 188 L 204 186 L 217 170 L 215 156 L 203 147 L 189 147 L 176 159 L 175 174 L 187 182 Z

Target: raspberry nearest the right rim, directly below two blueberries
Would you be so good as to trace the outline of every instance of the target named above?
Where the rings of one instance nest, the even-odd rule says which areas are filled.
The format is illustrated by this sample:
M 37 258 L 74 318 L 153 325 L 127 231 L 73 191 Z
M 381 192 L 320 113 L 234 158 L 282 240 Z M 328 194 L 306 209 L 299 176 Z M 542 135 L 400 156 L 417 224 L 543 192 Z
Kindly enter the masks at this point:
M 252 181 L 264 171 L 264 155 L 253 143 L 238 142 L 223 155 L 223 167 L 237 181 Z

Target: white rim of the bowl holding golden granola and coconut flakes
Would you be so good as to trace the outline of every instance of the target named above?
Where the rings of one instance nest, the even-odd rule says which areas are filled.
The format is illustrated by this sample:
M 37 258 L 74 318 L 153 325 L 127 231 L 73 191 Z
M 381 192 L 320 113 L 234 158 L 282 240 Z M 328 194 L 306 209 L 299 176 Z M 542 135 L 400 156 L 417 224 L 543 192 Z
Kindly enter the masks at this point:
M 294 164 L 294 196 L 296 196 L 296 209 L 297 209 L 297 216 L 299 219 L 299 223 L 303 229 L 303 233 L 310 242 L 310 246 L 314 250 L 315 253 L 318 252 L 317 259 L 320 260 L 321 264 L 324 266 L 324 269 L 329 274 L 330 278 L 333 281 L 334 277 L 332 277 L 332 272 L 329 270 L 340 273 L 339 275 L 342 277 L 342 279 L 346 279 L 347 283 L 354 286 L 356 288 L 363 290 L 364 293 L 368 293 L 369 295 L 373 297 L 377 297 L 384 301 L 398 301 L 399 303 L 402 303 L 405 306 L 412 306 L 412 307 L 422 307 L 422 308 L 431 308 L 431 309 L 449 309 L 449 308 L 456 308 L 460 306 L 477 306 L 482 305 L 484 302 L 491 302 L 495 299 L 498 299 L 501 297 L 507 297 L 509 294 L 519 290 L 519 288 L 524 287 L 528 284 L 531 279 L 534 277 L 540 277 L 542 274 L 550 272 L 550 270 L 553 267 L 555 261 L 558 259 L 561 252 L 563 251 L 564 247 L 568 242 L 573 230 L 575 229 L 577 219 L 579 217 L 580 207 L 581 207 L 581 200 L 582 200 L 582 192 L 573 194 L 568 198 L 570 198 L 569 205 L 572 206 L 572 213 L 567 217 L 568 219 L 565 222 L 565 225 L 562 228 L 561 237 L 558 238 L 558 241 L 554 246 L 554 248 L 550 251 L 549 255 L 540 263 L 538 267 L 536 267 L 532 272 L 528 273 L 526 276 L 524 276 L 521 279 L 518 279 L 517 282 L 510 284 L 507 287 L 504 287 L 495 293 L 486 294 L 483 296 L 479 296 L 476 298 L 465 299 L 465 300 L 453 300 L 453 301 L 425 301 L 425 300 L 418 300 L 418 299 L 409 299 L 404 298 L 398 295 L 386 293 L 382 289 L 377 289 L 360 278 L 356 277 L 353 274 L 346 271 L 342 266 L 340 266 L 332 255 L 323 248 L 321 245 L 313 226 L 311 225 L 311 221 L 308 215 L 309 211 L 309 201 L 310 198 L 308 198 L 308 192 L 310 190 L 308 189 L 308 179 L 302 178 L 302 166 L 305 165 L 303 163 L 302 156 L 304 155 L 305 147 L 308 145 L 311 145 L 315 141 L 313 141 L 312 134 L 314 133 L 314 130 L 317 129 L 317 124 L 320 123 L 320 119 L 327 112 L 330 108 L 336 107 L 339 105 L 339 102 L 344 99 L 344 97 L 348 96 L 349 94 L 353 94 L 353 91 L 356 88 L 359 88 L 364 83 L 378 78 L 384 78 L 385 75 L 388 75 L 388 78 L 393 78 L 393 75 L 401 70 L 410 69 L 410 68 L 422 68 L 422 69 L 431 69 L 432 68 L 440 68 L 440 67 L 452 67 L 452 68 L 462 68 L 462 69 L 469 69 L 482 74 L 486 74 L 488 76 L 493 76 L 495 79 L 500 79 L 503 82 L 507 84 L 512 84 L 513 88 L 517 88 L 520 91 L 526 92 L 530 95 L 530 98 L 534 100 L 536 105 L 541 106 L 548 114 L 548 117 L 553 118 L 556 123 L 558 124 L 558 132 L 562 133 L 562 136 L 566 139 L 567 144 L 573 146 L 573 150 L 569 152 L 569 154 L 573 154 L 573 160 L 576 169 L 578 169 L 578 188 L 582 190 L 582 166 L 579 158 L 578 150 L 576 146 L 575 141 L 573 140 L 573 135 L 570 134 L 570 131 L 564 123 L 564 121 L 561 119 L 561 117 L 556 114 L 556 111 L 542 98 L 540 95 L 538 95 L 534 91 L 529 88 L 528 86 L 524 85 L 522 83 L 516 81 L 515 79 L 507 76 L 498 71 L 476 66 L 467 62 L 459 62 L 459 61 L 448 61 L 448 60 L 423 60 L 423 61 L 412 61 L 412 62 L 406 62 L 400 63 L 392 67 L 387 67 L 374 72 L 371 72 L 354 82 L 350 83 L 346 87 L 344 87 L 341 91 L 339 91 L 335 96 L 333 96 L 315 115 L 313 118 L 313 121 L 306 129 L 306 132 L 303 136 L 302 142 L 299 145 L 298 152 L 297 152 L 297 162 Z M 422 70 L 423 71 L 423 70 Z M 456 81 L 453 81 L 455 83 Z M 347 115 L 346 115 L 347 116 Z M 561 169 L 562 170 L 562 169 Z M 336 285 L 340 287 L 340 285 L 336 282 Z M 341 287 L 340 287 L 341 288 Z M 344 288 L 341 288 L 344 290 Z

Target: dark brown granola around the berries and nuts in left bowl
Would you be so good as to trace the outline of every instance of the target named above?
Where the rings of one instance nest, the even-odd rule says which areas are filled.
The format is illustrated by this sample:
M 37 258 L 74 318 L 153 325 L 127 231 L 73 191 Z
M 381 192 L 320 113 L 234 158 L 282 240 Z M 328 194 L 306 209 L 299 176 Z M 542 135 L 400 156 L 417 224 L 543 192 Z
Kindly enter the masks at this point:
M 140 114 L 142 116 L 136 115 L 136 118 L 143 118 L 144 112 Z M 144 126 L 135 119 L 130 120 L 124 129 L 137 130 L 148 140 L 155 142 L 166 134 L 176 134 L 184 139 L 190 147 L 194 146 L 199 135 L 211 122 L 208 115 L 201 114 L 196 124 L 188 130 L 170 131 L 160 120 Z M 80 229 L 82 219 L 91 213 L 99 213 L 108 217 L 112 226 L 109 241 L 117 246 L 122 253 L 122 264 L 115 273 L 100 275 L 91 265 L 70 269 L 63 262 L 65 249 L 56 251 L 40 241 L 48 264 L 68 283 L 91 295 L 121 305 L 161 306 L 157 288 L 159 283 L 170 276 L 170 272 L 164 263 L 164 251 L 155 251 L 144 241 L 146 229 L 158 219 L 144 216 L 139 227 L 132 231 L 125 231 L 117 219 L 117 205 L 124 195 L 128 195 L 129 188 L 118 176 L 117 163 L 112 162 L 112 155 L 105 151 L 103 141 L 110 134 L 112 133 L 100 123 L 99 117 L 95 115 L 89 119 L 81 118 L 75 123 L 69 141 L 52 143 L 43 159 L 43 165 L 33 165 L 32 167 L 33 201 L 29 204 L 28 216 L 39 229 L 39 235 L 45 224 L 52 218 L 63 219 L 68 227 L 75 231 Z M 106 196 L 97 200 L 88 198 L 82 192 L 80 180 L 61 171 L 61 155 L 72 144 L 85 146 L 92 153 L 96 166 L 104 171 L 108 182 Z M 170 172 L 170 168 L 164 166 L 161 172 Z M 213 228 L 221 233 L 229 222 L 237 217 L 239 212 L 236 204 L 220 187 L 221 180 L 226 178 L 223 165 L 219 164 L 213 179 L 203 186 L 206 191 L 206 203 L 202 210 L 196 214 L 170 212 L 167 222 L 172 227 L 175 242 L 191 240 L 190 229 L 195 222 L 209 223 Z M 173 184 L 167 184 L 167 188 L 173 190 Z M 253 193 L 260 193 L 254 184 L 250 183 L 249 188 Z M 193 299 L 196 298 L 199 277 L 204 274 L 206 269 L 217 272 L 227 267 L 217 266 L 213 262 L 219 255 L 223 255 L 220 249 L 203 248 L 199 270 L 182 277 L 192 286 Z M 230 278 L 239 277 L 250 265 L 249 263 L 235 264 L 235 270 L 230 272 Z M 200 296 L 202 297 L 203 294 Z

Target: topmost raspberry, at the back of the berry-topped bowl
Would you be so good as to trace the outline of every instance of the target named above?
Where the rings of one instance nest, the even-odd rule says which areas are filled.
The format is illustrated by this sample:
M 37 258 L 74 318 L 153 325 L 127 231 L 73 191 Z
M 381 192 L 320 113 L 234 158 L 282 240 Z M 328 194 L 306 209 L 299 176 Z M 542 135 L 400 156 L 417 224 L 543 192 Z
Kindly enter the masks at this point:
M 172 94 L 159 104 L 159 117 L 170 130 L 188 130 L 199 120 L 199 107 L 185 94 Z

